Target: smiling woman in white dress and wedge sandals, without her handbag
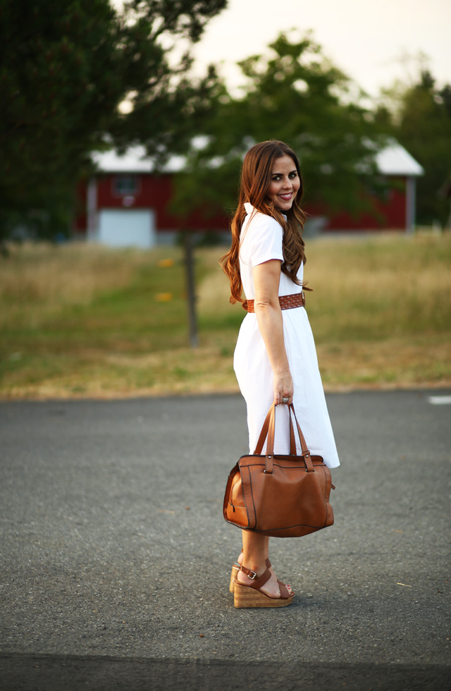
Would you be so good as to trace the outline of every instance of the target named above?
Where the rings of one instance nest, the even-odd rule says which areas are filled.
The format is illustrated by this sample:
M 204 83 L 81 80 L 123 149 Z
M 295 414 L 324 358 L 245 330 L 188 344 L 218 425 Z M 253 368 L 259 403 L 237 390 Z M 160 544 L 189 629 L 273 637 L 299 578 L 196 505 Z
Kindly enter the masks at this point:
M 249 149 L 231 226 L 232 247 L 221 264 L 230 279 L 230 302 L 243 302 L 244 289 L 243 307 L 249 312 L 234 357 L 247 404 L 249 453 L 254 453 L 273 401 L 286 404 L 276 409 L 274 451 L 290 453 L 288 405 L 294 403 L 311 454 L 321 455 L 328 467 L 336 467 L 340 461 L 314 339 L 302 306 L 306 218 L 300 206 L 302 192 L 299 162 L 288 145 L 271 140 Z M 287 295 L 294 298 L 287 300 L 283 297 Z M 278 581 L 269 562 L 269 538 L 243 530 L 242 544 L 233 570 L 235 606 L 291 604 L 294 592 Z

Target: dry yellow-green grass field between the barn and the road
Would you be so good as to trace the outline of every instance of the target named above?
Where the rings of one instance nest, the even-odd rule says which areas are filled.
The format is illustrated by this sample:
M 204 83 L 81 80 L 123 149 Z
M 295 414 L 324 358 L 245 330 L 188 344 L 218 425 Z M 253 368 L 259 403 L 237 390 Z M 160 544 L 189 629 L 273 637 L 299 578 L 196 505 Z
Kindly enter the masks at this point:
M 0 259 L 0 396 L 237 391 L 245 312 L 221 249 L 196 250 L 199 348 L 189 348 L 178 247 L 11 247 Z M 326 390 L 451 386 L 451 236 L 319 238 L 307 311 Z

